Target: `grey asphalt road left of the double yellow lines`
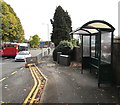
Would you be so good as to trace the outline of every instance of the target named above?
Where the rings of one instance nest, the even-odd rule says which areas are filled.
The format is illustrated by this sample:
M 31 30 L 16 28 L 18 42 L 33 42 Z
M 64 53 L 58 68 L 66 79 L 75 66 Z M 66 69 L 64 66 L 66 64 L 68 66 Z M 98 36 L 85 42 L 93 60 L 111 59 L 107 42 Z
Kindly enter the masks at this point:
M 36 56 L 41 50 L 30 50 Z M 31 88 L 33 78 L 25 62 L 15 62 L 13 58 L 1 58 L 2 76 L 0 77 L 0 94 L 3 103 L 22 103 Z M 2 92 L 2 93 L 1 93 Z

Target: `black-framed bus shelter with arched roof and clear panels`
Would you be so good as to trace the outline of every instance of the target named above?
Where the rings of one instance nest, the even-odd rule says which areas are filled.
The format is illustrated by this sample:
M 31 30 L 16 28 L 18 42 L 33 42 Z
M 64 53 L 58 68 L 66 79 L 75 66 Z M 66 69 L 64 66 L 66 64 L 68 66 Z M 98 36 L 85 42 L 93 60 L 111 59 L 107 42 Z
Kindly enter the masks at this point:
M 87 22 L 70 34 L 80 35 L 82 70 L 90 69 L 98 77 L 98 87 L 113 82 L 112 55 L 115 28 L 103 20 Z

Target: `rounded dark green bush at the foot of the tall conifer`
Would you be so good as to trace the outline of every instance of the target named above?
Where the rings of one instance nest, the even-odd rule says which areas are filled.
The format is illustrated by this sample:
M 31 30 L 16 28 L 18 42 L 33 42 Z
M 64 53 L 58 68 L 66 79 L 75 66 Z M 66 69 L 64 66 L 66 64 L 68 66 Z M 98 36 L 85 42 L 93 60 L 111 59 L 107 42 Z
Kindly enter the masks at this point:
M 61 41 L 60 44 L 53 51 L 53 60 L 57 61 L 57 52 L 62 52 L 64 55 L 71 55 L 73 45 L 68 41 Z

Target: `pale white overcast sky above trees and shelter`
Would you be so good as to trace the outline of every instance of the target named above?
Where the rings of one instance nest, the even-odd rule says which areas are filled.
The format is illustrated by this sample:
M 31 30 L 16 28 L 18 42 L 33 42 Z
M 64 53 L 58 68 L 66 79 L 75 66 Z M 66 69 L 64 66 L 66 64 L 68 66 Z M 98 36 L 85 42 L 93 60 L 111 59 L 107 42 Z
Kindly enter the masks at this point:
M 115 27 L 118 35 L 119 0 L 4 0 L 20 18 L 25 38 L 38 34 L 42 41 L 50 40 L 53 19 L 57 6 L 69 13 L 72 29 L 75 30 L 91 20 L 104 20 Z

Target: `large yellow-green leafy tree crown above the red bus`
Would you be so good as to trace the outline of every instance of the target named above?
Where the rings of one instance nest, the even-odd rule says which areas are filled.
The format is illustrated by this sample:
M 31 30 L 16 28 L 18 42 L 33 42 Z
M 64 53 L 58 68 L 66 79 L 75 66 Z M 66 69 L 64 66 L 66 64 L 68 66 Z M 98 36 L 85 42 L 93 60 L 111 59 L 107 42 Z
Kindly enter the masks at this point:
M 0 35 L 3 41 L 24 42 L 24 30 L 20 19 L 6 2 L 0 0 Z

